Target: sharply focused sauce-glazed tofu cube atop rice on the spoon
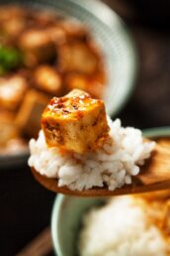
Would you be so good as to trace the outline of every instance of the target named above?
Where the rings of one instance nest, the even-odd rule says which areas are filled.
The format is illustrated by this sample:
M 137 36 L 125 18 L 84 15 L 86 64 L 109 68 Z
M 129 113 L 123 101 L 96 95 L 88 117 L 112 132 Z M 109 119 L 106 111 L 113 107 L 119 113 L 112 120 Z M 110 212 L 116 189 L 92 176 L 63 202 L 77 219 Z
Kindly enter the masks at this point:
M 54 97 L 42 113 L 42 130 L 49 147 L 80 154 L 95 150 L 109 132 L 104 102 L 78 89 Z

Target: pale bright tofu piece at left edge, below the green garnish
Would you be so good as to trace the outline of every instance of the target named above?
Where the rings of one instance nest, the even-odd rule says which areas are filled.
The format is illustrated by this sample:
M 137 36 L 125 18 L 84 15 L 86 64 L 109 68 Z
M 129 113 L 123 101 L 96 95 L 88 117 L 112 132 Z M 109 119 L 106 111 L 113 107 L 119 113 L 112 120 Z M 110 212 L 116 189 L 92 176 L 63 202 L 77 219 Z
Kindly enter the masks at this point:
M 23 100 L 28 88 L 24 77 L 14 75 L 0 78 L 0 105 L 8 110 L 16 110 Z

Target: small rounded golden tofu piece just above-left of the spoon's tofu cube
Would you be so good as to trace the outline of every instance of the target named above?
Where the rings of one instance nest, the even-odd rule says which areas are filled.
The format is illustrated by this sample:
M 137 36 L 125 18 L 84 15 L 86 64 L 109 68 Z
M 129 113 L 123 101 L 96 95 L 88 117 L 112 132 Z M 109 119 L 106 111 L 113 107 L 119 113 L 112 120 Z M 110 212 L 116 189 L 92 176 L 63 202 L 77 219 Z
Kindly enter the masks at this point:
M 34 76 L 38 88 L 57 96 L 61 95 L 61 76 L 53 67 L 41 65 L 36 69 Z

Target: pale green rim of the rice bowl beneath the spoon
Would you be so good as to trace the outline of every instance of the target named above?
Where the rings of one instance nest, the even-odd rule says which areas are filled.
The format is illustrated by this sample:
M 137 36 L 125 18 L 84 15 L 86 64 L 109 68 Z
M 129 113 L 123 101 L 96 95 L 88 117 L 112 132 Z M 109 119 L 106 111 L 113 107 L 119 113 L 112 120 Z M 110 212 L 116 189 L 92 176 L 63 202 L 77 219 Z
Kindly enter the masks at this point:
M 148 138 L 153 137 L 170 137 L 170 126 L 164 127 L 154 127 L 142 130 L 142 134 Z M 59 244 L 59 235 L 58 235 L 58 225 L 59 225 L 59 215 L 61 212 L 61 205 L 64 203 L 64 200 L 67 199 L 68 195 L 57 194 L 55 196 L 52 210 L 51 210 L 51 221 L 50 221 L 50 230 L 52 237 L 53 249 L 56 255 L 63 256 L 62 248 Z

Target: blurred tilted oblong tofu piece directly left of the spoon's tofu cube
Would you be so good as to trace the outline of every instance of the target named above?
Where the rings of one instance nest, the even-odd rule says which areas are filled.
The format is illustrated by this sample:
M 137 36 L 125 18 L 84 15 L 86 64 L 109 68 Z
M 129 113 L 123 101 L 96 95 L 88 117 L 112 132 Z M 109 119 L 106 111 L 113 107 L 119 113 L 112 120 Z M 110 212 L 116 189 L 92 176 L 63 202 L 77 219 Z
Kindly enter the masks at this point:
M 16 116 L 17 127 L 26 135 L 37 137 L 41 129 L 41 116 L 48 97 L 36 90 L 26 94 L 23 104 Z

